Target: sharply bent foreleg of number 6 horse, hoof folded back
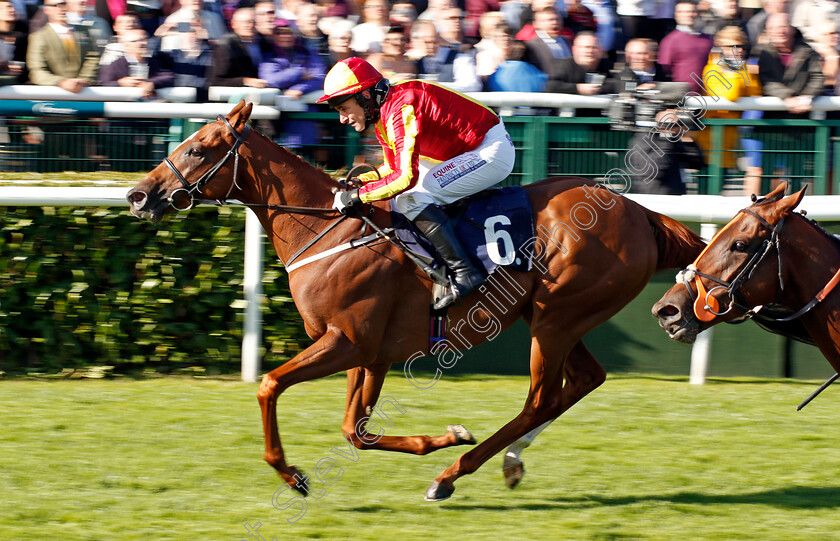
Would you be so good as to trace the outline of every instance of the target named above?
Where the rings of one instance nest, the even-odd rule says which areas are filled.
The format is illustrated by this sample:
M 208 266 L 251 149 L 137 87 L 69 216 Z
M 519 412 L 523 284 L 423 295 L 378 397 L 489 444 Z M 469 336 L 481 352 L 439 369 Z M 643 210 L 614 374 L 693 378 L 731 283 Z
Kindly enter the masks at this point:
M 347 406 L 342 431 L 359 449 L 398 451 L 425 455 L 453 445 L 475 444 L 472 434 L 461 425 L 451 425 L 442 436 L 386 436 L 387 427 L 393 425 L 389 417 L 400 413 L 401 407 L 390 397 L 379 401 L 382 383 L 389 364 L 347 371 Z M 386 407 L 387 406 L 387 407 Z M 376 426 L 376 433 L 369 432 Z

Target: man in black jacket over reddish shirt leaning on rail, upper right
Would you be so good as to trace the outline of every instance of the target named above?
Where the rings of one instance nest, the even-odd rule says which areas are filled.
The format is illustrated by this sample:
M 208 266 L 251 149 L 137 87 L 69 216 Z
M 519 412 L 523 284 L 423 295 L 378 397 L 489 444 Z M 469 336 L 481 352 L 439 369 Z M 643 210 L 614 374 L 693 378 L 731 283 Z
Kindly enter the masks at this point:
M 784 100 L 790 113 L 807 113 L 825 83 L 819 55 L 790 25 L 785 13 L 768 17 L 766 31 L 769 43 L 759 45 L 756 51 L 764 94 Z M 765 118 L 773 116 L 772 112 L 765 114 Z

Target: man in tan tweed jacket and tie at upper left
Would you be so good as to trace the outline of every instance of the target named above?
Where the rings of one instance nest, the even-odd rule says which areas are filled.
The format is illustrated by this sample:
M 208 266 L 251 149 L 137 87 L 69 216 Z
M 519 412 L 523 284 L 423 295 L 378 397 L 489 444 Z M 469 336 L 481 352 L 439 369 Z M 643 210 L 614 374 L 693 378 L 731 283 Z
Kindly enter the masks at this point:
M 29 79 L 36 85 L 59 86 L 69 92 L 96 84 L 99 53 L 83 30 L 67 25 L 67 3 L 46 0 L 44 13 L 49 24 L 29 36 Z

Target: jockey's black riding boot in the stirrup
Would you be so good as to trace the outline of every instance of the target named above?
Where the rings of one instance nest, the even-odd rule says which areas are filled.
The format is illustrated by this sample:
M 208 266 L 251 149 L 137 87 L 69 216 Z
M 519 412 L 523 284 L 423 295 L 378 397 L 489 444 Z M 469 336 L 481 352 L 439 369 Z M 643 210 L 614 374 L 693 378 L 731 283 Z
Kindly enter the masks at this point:
M 470 261 L 464 251 L 449 216 L 434 205 L 429 205 L 413 221 L 414 226 L 429 239 L 443 262 L 454 274 L 452 287 L 435 303 L 435 310 L 446 308 L 455 299 L 465 297 L 484 281 L 484 274 Z

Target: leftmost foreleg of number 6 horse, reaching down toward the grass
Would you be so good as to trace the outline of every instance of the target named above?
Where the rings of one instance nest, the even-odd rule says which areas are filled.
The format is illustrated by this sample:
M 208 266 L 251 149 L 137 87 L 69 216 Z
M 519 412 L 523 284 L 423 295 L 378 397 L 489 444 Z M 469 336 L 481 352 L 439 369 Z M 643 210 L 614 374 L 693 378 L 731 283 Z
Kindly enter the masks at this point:
M 296 355 L 292 360 L 263 376 L 257 399 L 262 410 L 263 434 L 265 436 L 265 461 L 268 462 L 289 485 L 306 494 L 303 476 L 294 466 L 286 464 L 280 432 L 277 428 L 277 399 L 280 394 L 296 383 L 309 381 L 342 370 L 349 370 L 364 362 L 361 350 L 341 331 L 331 328 L 314 344 Z

